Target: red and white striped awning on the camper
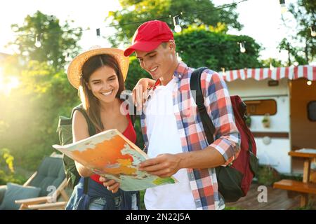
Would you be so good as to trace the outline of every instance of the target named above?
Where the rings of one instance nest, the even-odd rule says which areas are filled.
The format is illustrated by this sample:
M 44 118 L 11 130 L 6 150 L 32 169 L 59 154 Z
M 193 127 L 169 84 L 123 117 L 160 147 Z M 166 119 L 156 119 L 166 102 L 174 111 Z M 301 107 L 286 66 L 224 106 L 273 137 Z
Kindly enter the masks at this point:
M 316 80 L 316 66 L 310 65 L 279 67 L 274 69 L 239 69 L 219 73 L 228 82 L 236 79 L 245 80 L 246 78 L 254 78 L 256 80 L 263 80 L 265 78 L 272 78 L 274 80 L 281 78 L 288 78 L 290 80 L 307 78 L 308 80 Z

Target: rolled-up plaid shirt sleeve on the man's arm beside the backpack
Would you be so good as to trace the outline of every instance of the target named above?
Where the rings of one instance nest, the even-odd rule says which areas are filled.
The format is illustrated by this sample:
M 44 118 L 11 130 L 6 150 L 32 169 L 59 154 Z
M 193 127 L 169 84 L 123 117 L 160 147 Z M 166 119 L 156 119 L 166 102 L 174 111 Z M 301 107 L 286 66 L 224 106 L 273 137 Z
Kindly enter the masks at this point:
M 210 146 L 223 155 L 224 166 L 229 165 L 239 154 L 241 140 L 228 87 L 225 80 L 211 70 L 202 73 L 201 81 L 202 92 L 206 96 L 204 104 L 215 127 L 215 141 Z

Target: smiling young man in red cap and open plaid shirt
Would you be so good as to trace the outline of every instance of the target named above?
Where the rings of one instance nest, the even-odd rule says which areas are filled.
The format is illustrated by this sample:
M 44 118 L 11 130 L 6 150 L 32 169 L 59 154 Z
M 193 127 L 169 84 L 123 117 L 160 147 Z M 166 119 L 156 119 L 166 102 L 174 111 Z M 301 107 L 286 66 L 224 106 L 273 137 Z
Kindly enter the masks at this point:
M 146 209 L 223 209 L 214 167 L 230 164 L 240 145 L 225 81 L 214 71 L 202 73 L 206 110 L 216 127 L 215 141 L 208 145 L 190 92 L 194 69 L 178 62 L 168 25 L 158 20 L 140 25 L 124 55 L 134 51 L 140 66 L 158 80 L 141 116 L 150 159 L 142 162 L 140 169 L 178 180 L 175 184 L 148 188 Z M 111 185 L 117 187 L 111 181 L 105 182 L 105 186 Z

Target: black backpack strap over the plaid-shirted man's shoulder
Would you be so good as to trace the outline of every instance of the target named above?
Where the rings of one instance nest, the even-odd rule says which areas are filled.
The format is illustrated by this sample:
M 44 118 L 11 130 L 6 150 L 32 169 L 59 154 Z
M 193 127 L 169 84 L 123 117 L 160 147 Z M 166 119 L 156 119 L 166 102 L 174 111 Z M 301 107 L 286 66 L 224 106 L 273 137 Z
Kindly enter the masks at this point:
M 197 110 L 202 120 L 206 139 L 209 144 L 212 144 L 214 141 L 213 135 L 215 133 L 215 127 L 211 121 L 211 118 L 209 117 L 209 114 L 207 114 L 206 107 L 204 106 L 204 96 L 201 88 L 201 75 L 205 69 L 208 68 L 201 67 L 199 69 L 195 69 L 195 71 L 192 72 L 190 78 L 190 90 L 193 98 L 195 96 L 195 103 L 197 104 Z

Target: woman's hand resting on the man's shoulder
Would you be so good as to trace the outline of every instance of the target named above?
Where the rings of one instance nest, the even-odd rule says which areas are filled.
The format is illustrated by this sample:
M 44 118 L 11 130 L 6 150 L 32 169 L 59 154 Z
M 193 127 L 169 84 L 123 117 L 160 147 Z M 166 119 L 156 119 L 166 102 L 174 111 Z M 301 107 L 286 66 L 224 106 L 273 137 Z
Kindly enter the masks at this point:
M 143 104 L 147 99 L 147 90 L 154 85 L 156 81 L 150 78 L 140 78 L 133 88 L 133 103 L 136 104 L 137 111 L 143 109 Z

